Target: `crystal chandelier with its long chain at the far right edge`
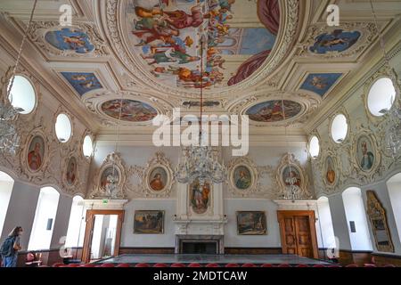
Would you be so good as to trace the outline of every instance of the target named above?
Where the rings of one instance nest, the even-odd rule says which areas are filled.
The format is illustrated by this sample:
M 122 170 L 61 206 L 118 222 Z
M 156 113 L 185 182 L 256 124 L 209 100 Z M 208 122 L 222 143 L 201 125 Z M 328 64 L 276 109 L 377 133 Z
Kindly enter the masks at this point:
M 383 35 L 381 34 L 381 29 L 379 28 L 379 25 L 377 23 L 377 16 L 376 13 L 374 12 L 374 7 L 373 7 L 373 2 L 370 0 L 371 4 L 371 11 L 372 11 L 372 16 L 374 19 L 374 25 L 375 28 L 378 30 L 379 37 L 380 37 L 380 42 L 381 42 L 381 52 L 383 53 L 383 59 L 386 68 L 388 69 L 389 72 L 389 77 L 393 83 L 394 86 L 397 85 L 397 78 L 394 77 L 393 72 L 391 71 L 391 67 L 389 64 L 389 55 L 386 52 L 386 47 L 384 45 L 384 39 Z M 398 90 L 399 90 L 398 86 Z M 393 104 L 393 99 L 391 99 L 391 104 Z M 397 158 L 397 153 L 398 151 L 401 151 L 401 110 L 398 106 L 397 101 L 394 103 L 394 105 L 388 110 L 388 109 L 383 109 L 380 112 L 382 114 L 388 114 L 389 115 L 389 120 L 391 126 L 386 132 L 386 148 L 390 151 L 391 156 L 396 159 Z

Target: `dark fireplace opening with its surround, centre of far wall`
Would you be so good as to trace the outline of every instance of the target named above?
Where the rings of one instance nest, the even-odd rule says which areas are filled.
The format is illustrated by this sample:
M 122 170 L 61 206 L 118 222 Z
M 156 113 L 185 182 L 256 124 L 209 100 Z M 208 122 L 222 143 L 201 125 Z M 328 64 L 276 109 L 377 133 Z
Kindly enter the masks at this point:
M 176 235 L 176 254 L 224 254 L 222 235 Z

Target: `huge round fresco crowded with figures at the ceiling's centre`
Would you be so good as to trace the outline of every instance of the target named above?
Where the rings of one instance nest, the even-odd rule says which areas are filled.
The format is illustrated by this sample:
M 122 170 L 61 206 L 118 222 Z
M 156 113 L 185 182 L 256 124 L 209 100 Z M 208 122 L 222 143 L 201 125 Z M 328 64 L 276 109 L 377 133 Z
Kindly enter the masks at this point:
M 154 77 L 174 87 L 210 88 L 235 85 L 266 61 L 280 9 L 271 0 L 130 0 L 126 20 L 131 53 Z

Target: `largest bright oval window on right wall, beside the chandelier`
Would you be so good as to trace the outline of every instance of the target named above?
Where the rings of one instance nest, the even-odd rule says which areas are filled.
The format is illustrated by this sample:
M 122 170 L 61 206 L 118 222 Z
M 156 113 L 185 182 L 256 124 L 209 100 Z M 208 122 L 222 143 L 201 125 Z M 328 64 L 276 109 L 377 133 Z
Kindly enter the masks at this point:
M 386 114 L 396 100 L 396 88 L 389 77 L 383 77 L 372 85 L 367 97 L 368 109 L 373 116 Z

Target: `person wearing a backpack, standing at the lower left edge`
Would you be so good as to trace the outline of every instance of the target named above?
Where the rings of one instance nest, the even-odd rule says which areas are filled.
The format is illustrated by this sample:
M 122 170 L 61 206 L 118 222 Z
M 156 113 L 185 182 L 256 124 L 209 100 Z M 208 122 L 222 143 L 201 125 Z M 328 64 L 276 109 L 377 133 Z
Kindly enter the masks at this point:
M 20 250 L 20 235 L 22 227 L 16 226 L 4 240 L 0 254 L 3 259 L 3 267 L 17 267 L 18 251 Z

